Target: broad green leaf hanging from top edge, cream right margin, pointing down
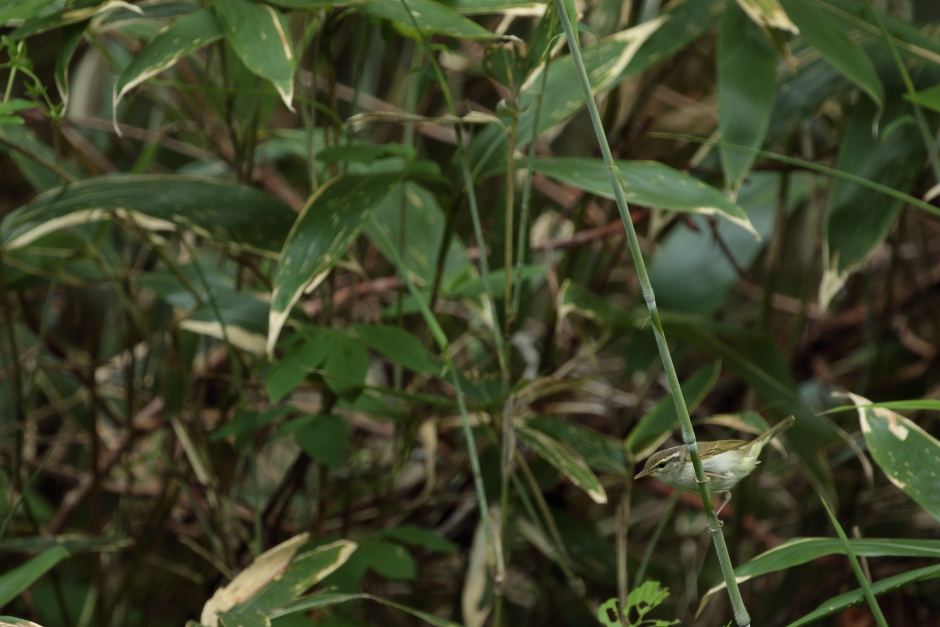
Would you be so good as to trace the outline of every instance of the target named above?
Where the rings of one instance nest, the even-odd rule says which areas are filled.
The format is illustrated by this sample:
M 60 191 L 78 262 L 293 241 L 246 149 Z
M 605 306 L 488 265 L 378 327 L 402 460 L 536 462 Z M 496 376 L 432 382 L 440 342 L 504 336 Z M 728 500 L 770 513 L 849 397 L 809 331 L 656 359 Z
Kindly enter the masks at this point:
M 271 81 L 284 105 L 294 110 L 294 44 L 290 28 L 270 5 L 224 0 L 214 5 L 225 40 L 249 70 Z

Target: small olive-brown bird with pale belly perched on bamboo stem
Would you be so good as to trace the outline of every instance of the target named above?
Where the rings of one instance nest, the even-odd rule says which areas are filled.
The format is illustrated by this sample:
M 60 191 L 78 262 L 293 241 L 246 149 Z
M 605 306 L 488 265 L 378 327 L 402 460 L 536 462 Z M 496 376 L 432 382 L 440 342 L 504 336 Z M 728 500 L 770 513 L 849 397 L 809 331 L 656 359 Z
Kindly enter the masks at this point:
M 698 443 L 702 468 L 705 470 L 705 478 L 708 481 L 708 491 L 725 493 L 725 502 L 715 512 L 716 515 L 731 500 L 731 488 L 737 485 L 738 481 L 751 474 L 757 464 L 760 463 L 757 458 L 760 456 L 764 445 L 789 429 L 793 422 L 793 416 L 781 420 L 767 433 L 750 442 L 718 440 L 717 442 Z M 698 493 L 699 482 L 695 478 L 692 457 L 685 445 L 674 446 L 650 455 L 643 466 L 643 471 L 634 479 L 646 476 L 656 477 L 663 483 L 683 492 Z

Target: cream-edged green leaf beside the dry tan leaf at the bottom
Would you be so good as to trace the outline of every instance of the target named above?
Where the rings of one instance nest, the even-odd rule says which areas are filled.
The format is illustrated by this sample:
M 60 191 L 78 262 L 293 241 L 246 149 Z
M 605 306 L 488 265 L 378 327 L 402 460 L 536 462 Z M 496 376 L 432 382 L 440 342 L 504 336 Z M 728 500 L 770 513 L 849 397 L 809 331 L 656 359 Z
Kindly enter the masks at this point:
M 270 614 L 273 610 L 287 605 L 342 566 L 356 547 L 355 542 L 338 540 L 295 554 L 285 570 L 273 577 L 249 600 L 233 609 L 238 612 Z M 256 558 L 255 563 L 260 557 L 263 556 Z

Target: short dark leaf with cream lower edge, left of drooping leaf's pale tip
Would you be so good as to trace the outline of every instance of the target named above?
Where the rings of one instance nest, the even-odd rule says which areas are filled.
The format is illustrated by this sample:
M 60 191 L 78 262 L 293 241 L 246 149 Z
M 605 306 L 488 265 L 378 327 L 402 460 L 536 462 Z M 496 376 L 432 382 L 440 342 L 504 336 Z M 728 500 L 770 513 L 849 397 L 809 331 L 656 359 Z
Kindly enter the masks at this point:
M 206 299 L 180 321 L 180 328 L 219 340 L 227 337 L 233 346 L 263 354 L 268 336 L 268 304 L 243 292 L 217 293 L 214 300 L 215 306 Z

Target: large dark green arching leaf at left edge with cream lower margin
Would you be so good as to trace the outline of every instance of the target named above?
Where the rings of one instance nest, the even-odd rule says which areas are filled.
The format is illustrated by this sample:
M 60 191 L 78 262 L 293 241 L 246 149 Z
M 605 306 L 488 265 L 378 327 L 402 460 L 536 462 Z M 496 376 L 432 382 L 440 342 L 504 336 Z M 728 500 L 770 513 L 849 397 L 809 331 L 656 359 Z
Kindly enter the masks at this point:
M 52 231 L 121 217 L 148 230 L 188 229 L 273 255 L 296 215 L 263 192 L 225 181 L 179 175 L 101 176 L 38 196 L 7 215 L 0 233 L 4 249 L 13 250 Z

